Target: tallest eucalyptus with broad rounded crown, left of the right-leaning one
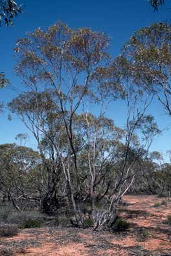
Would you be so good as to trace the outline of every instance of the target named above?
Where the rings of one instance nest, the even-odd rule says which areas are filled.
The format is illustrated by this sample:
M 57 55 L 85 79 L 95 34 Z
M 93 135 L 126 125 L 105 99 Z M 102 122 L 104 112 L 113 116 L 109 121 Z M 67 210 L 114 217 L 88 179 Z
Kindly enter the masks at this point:
M 105 65 L 109 58 L 107 49 L 108 37 L 103 33 L 90 29 L 69 29 L 60 22 L 46 31 L 37 29 L 33 33 L 28 33 L 27 38 L 17 41 L 15 49 L 18 58 L 16 73 L 21 76 L 30 91 L 14 99 L 10 108 L 19 114 L 32 130 L 43 158 L 45 155 L 41 137 L 45 135 L 51 139 L 47 129 L 47 118 L 52 112 L 58 121 L 61 120 L 60 130 L 64 131 L 69 143 L 67 151 L 61 152 L 60 145 L 52 139 L 51 143 L 62 164 L 78 226 L 82 226 L 83 223 L 80 209 L 82 196 L 73 117 L 85 101 L 98 100 L 97 95 L 95 96 L 98 84 L 94 75 L 97 67 Z M 42 93 L 45 97 L 50 97 L 50 100 L 52 95 L 52 106 L 47 106 L 49 100 L 40 100 Z M 72 179 L 76 181 L 77 202 L 74 198 Z

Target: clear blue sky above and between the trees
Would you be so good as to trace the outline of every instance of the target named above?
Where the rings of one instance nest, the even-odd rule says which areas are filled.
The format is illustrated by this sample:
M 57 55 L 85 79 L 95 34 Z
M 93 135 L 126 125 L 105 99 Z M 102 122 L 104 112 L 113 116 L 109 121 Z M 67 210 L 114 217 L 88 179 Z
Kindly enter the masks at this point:
M 0 28 L 0 71 L 4 71 L 12 86 L 20 90 L 23 85 L 13 71 L 15 64 L 13 49 L 16 40 L 24 37 L 26 31 L 32 31 L 38 27 L 45 29 L 58 20 L 73 28 L 90 27 L 93 30 L 104 31 L 111 36 L 111 54 L 117 56 L 123 43 L 130 38 L 135 30 L 150 25 L 154 21 L 169 19 L 171 16 L 170 10 L 153 12 L 147 0 L 20 0 L 19 3 L 23 3 L 25 9 L 24 13 L 14 20 L 14 27 L 3 25 Z M 14 96 L 16 96 L 16 92 L 10 87 L 0 91 L 0 101 L 5 103 Z M 152 104 L 149 111 L 154 115 L 161 129 L 171 123 L 170 117 L 166 115 L 157 101 Z M 27 132 L 25 126 L 16 117 L 9 122 L 7 114 L 8 111 L 0 116 L 0 143 L 12 143 L 17 134 Z M 115 120 L 115 124 L 121 126 L 124 124 L 124 110 L 121 102 L 116 102 L 114 108 L 109 109 L 108 114 Z M 156 138 L 152 150 L 165 153 L 166 150 L 171 149 L 170 135 L 171 128 Z M 30 135 L 28 146 L 35 147 L 35 145 L 35 141 Z

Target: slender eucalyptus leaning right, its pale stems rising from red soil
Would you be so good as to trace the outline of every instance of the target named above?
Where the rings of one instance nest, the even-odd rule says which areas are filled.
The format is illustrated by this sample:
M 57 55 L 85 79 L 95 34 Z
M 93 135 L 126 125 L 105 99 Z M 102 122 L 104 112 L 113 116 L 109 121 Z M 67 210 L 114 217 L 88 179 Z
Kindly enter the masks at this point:
M 117 87 L 120 96 L 124 99 L 127 118 L 124 134 L 120 141 L 122 157 L 117 159 L 117 175 L 113 176 L 114 188 L 108 193 L 108 207 L 104 207 L 97 217 L 95 229 L 102 226 L 111 227 L 117 218 L 117 209 L 120 199 L 130 189 L 138 170 L 137 163 L 148 156 L 148 150 L 154 136 L 160 130 L 151 115 L 146 115 L 146 110 L 153 100 L 153 94 L 143 89 L 133 76 L 131 65 L 120 55 L 111 65 L 97 70 L 98 76 L 103 77 L 102 84 L 107 83 L 110 89 Z M 105 79 L 105 82 L 104 82 Z M 120 152 L 119 148 L 115 150 Z M 112 179 L 112 178 L 111 178 Z

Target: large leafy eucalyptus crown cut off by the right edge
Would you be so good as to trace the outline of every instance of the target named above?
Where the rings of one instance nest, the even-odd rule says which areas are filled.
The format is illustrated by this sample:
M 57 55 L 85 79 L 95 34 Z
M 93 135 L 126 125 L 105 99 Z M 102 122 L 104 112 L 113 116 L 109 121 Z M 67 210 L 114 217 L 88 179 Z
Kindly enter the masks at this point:
M 171 115 L 170 36 L 169 25 L 154 23 L 135 32 L 122 51 L 130 65 L 133 79 L 146 91 L 153 93 L 169 115 Z

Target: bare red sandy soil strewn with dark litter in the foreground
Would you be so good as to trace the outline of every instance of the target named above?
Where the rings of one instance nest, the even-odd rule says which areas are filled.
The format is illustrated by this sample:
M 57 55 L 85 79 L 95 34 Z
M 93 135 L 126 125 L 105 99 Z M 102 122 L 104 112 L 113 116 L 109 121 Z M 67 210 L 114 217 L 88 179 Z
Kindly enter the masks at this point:
M 171 256 L 171 203 L 154 207 L 163 198 L 125 196 L 119 215 L 130 222 L 128 231 L 97 232 L 93 229 L 45 227 L 21 230 L 1 238 L 0 256 Z M 148 235 L 144 235 L 144 231 Z

